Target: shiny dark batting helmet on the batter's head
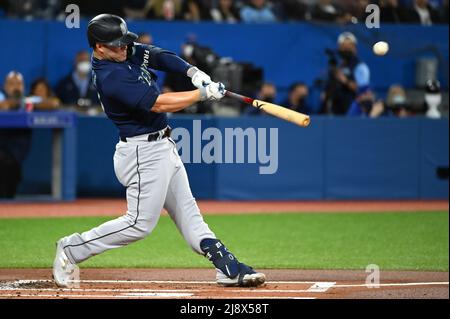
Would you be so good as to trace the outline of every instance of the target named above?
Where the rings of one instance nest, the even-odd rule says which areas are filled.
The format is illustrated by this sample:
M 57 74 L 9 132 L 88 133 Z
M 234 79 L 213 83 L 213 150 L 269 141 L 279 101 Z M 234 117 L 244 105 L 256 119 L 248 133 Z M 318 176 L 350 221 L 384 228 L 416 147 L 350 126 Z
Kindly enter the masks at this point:
M 128 31 L 124 19 L 104 13 L 89 21 L 87 37 L 89 45 L 94 48 L 96 43 L 121 47 L 132 43 L 138 36 Z

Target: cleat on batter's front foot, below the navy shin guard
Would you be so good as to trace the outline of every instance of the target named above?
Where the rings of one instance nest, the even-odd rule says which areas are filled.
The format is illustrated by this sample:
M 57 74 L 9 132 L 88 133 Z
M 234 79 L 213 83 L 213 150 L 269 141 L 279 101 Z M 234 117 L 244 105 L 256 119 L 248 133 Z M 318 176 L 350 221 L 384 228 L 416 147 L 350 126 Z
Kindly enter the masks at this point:
M 258 287 L 266 282 L 266 275 L 256 272 L 253 268 L 240 263 L 241 271 L 239 275 L 230 278 L 220 269 L 217 269 L 216 281 L 219 285 L 225 287 Z

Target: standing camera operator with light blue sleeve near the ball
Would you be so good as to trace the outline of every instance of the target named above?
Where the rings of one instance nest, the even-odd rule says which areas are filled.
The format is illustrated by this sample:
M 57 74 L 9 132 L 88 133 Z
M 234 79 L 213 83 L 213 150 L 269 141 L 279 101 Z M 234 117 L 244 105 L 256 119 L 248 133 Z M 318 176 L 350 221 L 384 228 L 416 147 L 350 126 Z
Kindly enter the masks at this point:
M 339 58 L 332 50 L 326 50 L 329 70 L 322 113 L 344 115 L 355 100 L 358 88 L 370 85 L 370 70 L 357 55 L 357 40 L 352 33 L 342 33 L 337 42 Z

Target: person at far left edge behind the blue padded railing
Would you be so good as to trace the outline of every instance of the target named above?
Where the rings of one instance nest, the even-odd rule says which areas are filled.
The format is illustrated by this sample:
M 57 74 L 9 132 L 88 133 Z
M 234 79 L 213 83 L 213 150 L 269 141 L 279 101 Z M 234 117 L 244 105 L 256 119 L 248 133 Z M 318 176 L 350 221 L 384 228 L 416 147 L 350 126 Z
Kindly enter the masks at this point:
M 25 83 L 21 73 L 11 71 L 0 93 L 0 112 L 25 108 Z M 22 179 L 22 162 L 31 143 L 30 129 L 0 129 L 0 198 L 14 198 Z

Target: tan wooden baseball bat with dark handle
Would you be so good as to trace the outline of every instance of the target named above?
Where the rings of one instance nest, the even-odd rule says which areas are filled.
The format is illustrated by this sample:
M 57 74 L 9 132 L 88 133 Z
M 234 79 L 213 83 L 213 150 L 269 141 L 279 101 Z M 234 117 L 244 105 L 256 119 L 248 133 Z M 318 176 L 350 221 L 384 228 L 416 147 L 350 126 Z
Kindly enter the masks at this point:
M 236 94 L 231 91 L 226 91 L 225 95 L 234 99 L 238 99 L 246 104 L 253 105 L 254 107 L 261 109 L 270 115 L 276 116 L 288 122 L 292 122 L 299 126 L 307 127 L 311 122 L 311 119 L 309 118 L 308 115 L 293 111 L 291 109 L 276 104 L 252 99 L 250 97 Z

